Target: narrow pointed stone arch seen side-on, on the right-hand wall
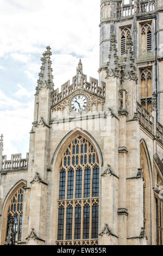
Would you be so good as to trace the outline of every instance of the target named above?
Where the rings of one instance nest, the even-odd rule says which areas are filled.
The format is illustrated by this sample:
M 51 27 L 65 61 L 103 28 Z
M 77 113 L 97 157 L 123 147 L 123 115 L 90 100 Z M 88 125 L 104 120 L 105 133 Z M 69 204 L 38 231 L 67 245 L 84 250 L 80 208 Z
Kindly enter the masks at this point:
M 143 173 L 143 221 L 148 245 L 152 244 L 152 188 L 153 173 L 147 144 L 144 139 L 140 142 L 140 168 Z

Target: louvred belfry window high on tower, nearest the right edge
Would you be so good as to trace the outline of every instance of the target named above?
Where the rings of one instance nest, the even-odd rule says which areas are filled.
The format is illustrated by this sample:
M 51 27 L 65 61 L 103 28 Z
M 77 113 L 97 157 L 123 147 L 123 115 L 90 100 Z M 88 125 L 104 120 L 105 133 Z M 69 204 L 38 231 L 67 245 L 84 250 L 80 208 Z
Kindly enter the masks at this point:
M 141 47 L 142 52 L 151 52 L 152 50 L 152 28 L 147 23 L 141 28 Z

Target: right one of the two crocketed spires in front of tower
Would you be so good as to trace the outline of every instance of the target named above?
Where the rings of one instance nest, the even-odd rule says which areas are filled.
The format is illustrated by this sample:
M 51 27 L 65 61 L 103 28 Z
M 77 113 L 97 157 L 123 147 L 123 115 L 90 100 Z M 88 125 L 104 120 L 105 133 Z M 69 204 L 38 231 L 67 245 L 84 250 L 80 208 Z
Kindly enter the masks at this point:
M 131 40 L 131 36 L 127 36 L 127 58 L 125 59 L 126 65 L 124 68 L 124 80 L 134 80 L 137 83 L 137 75 L 136 75 L 136 66 L 134 60 L 134 53 L 132 50 L 133 42 Z

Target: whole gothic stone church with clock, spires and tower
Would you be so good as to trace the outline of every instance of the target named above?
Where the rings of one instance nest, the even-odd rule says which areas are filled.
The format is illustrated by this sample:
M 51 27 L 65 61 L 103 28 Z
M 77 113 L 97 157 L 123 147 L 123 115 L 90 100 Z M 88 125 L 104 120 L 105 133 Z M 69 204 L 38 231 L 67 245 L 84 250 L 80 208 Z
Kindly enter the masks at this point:
M 162 245 L 163 2 L 101 0 L 99 82 L 41 58 L 29 154 L 0 147 L 1 245 Z

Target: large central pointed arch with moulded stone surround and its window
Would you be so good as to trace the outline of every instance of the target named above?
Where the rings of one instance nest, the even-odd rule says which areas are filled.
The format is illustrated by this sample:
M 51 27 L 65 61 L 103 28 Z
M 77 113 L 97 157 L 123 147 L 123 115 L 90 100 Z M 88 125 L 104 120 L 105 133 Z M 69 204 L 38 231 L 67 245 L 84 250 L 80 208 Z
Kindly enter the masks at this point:
M 55 150 L 51 162 L 55 223 L 51 232 L 57 245 L 98 243 L 102 164 L 97 142 L 79 127 L 69 132 Z

